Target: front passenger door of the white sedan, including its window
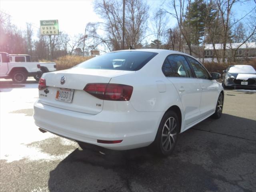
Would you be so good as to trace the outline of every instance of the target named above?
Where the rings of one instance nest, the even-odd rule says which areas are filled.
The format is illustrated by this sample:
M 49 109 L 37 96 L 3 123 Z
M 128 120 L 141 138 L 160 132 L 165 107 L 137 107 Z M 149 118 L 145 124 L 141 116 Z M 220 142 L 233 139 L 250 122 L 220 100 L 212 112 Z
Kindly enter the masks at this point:
M 211 80 L 209 72 L 192 57 L 186 57 L 196 78 L 199 80 L 201 88 L 201 102 L 200 102 L 200 118 L 208 116 L 213 113 L 216 108 L 216 101 L 218 97 L 218 83 L 215 80 Z

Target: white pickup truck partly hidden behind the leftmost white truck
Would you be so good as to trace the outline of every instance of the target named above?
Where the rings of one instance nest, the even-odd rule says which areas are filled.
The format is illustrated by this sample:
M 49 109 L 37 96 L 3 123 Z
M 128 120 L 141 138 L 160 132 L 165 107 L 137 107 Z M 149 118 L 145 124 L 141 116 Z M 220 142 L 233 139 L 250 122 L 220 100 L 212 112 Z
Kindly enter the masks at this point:
M 31 62 L 30 55 L 9 54 L 10 62 L 26 62 L 28 64 L 40 64 L 40 69 L 43 73 L 56 71 L 56 64 L 54 62 Z M 41 76 L 34 76 L 38 81 Z

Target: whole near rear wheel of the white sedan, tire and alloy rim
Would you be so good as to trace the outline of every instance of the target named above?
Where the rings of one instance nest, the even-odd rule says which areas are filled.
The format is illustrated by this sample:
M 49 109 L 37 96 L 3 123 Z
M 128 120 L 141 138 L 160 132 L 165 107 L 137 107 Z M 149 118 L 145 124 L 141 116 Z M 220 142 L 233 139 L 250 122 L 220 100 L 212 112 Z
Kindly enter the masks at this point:
M 160 122 L 152 147 L 161 156 L 172 154 L 178 139 L 180 123 L 177 114 L 170 110 Z

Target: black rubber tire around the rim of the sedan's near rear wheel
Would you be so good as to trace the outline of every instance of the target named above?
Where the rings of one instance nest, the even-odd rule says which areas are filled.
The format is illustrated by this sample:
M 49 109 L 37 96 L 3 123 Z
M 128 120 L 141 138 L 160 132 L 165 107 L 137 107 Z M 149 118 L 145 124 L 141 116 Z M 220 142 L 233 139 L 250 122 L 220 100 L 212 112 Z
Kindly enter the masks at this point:
M 166 120 L 170 117 L 173 117 L 175 120 L 176 120 L 176 132 L 177 132 L 177 135 L 176 135 L 176 141 L 174 142 L 173 144 L 173 147 L 171 148 L 171 150 L 169 151 L 166 151 L 164 150 L 163 146 L 162 146 L 162 130 L 164 128 L 164 124 L 166 122 Z M 161 156 L 169 156 L 170 154 L 172 154 L 175 146 L 176 146 L 176 143 L 177 143 L 177 140 L 178 140 L 178 132 L 179 132 L 179 127 L 180 127 L 180 121 L 178 119 L 178 116 L 177 114 L 170 110 L 168 112 L 166 112 L 160 122 L 160 125 L 158 127 L 158 132 L 156 134 L 156 139 L 154 141 L 154 146 L 155 146 L 155 150 L 158 154 L 160 154 Z

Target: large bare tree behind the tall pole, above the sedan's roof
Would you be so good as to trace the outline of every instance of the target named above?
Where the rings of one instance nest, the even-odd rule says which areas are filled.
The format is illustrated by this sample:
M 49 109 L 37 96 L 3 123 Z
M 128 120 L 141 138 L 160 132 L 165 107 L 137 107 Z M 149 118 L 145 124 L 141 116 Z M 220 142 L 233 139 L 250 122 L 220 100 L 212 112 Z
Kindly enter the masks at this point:
M 94 10 L 104 22 L 100 23 L 105 34 L 98 36 L 105 45 L 108 43 L 112 50 L 122 48 L 122 2 L 118 0 L 103 0 L 94 2 Z M 148 5 L 140 0 L 125 1 L 125 48 L 138 48 L 144 39 L 146 22 L 148 19 Z

